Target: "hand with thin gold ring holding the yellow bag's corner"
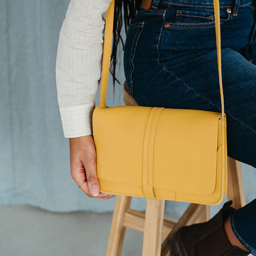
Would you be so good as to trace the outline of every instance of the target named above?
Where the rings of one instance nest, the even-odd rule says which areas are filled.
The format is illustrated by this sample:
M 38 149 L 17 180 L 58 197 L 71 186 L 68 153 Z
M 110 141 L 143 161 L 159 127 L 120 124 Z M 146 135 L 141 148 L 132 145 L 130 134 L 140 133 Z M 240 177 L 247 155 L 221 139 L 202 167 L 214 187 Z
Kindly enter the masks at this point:
M 90 198 L 108 199 L 114 194 L 100 192 L 96 172 L 96 149 L 92 135 L 70 138 L 71 177 Z

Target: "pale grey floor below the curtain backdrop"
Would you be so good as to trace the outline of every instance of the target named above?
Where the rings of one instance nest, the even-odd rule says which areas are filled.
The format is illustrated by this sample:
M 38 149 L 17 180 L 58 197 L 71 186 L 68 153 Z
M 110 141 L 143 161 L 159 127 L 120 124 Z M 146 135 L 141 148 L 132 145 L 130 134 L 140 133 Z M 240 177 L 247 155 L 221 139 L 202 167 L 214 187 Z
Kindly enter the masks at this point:
M 0 207 L 1 256 L 104 256 L 112 214 L 57 214 L 32 206 Z M 176 218 L 167 212 L 165 218 Z M 127 229 L 122 256 L 142 253 L 143 234 Z

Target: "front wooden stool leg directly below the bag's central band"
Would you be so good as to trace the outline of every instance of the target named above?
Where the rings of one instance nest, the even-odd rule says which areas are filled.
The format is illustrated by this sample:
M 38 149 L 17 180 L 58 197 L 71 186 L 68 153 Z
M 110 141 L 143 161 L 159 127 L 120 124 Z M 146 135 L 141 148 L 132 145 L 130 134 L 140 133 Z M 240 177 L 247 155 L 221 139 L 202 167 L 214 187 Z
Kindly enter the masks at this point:
M 164 203 L 162 199 L 146 200 L 142 256 L 161 255 Z

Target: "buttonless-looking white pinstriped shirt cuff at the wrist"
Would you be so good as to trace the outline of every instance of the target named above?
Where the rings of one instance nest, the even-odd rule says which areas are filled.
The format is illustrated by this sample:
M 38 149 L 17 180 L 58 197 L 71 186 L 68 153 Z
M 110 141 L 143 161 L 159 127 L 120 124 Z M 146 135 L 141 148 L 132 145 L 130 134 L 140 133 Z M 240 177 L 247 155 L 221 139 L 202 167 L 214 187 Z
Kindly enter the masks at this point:
M 94 105 L 79 105 L 60 108 L 65 138 L 76 138 L 92 134 Z

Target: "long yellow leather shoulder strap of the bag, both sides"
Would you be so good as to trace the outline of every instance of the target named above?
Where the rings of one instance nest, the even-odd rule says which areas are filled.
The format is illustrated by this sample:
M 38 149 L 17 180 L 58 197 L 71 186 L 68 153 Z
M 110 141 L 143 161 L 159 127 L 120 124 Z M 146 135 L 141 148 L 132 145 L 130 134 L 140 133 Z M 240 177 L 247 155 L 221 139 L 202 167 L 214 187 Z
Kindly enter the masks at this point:
M 223 86 L 222 86 L 222 58 L 221 58 L 221 43 L 220 43 L 220 5 L 218 0 L 214 0 L 214 15 L 215 15 L 215 33 L 216 33 L 217 59 L 218 59 L 218 81 L 220 84 L 220 99 L 222 102 L 222 119 L 223 119 L 224 97 L 223 97 Z M 100 104 L 103 104 L 103 105 L 106 105 L 106 90 L 108 87 L 108 74 L 110 73 L 113 22 L 114 22 L 114 0 L 111 1 L 110 6 L 108 7 L 108 10 L 106 10 L 102 79 L 101 79 L 101 87 L 100 87 Z

